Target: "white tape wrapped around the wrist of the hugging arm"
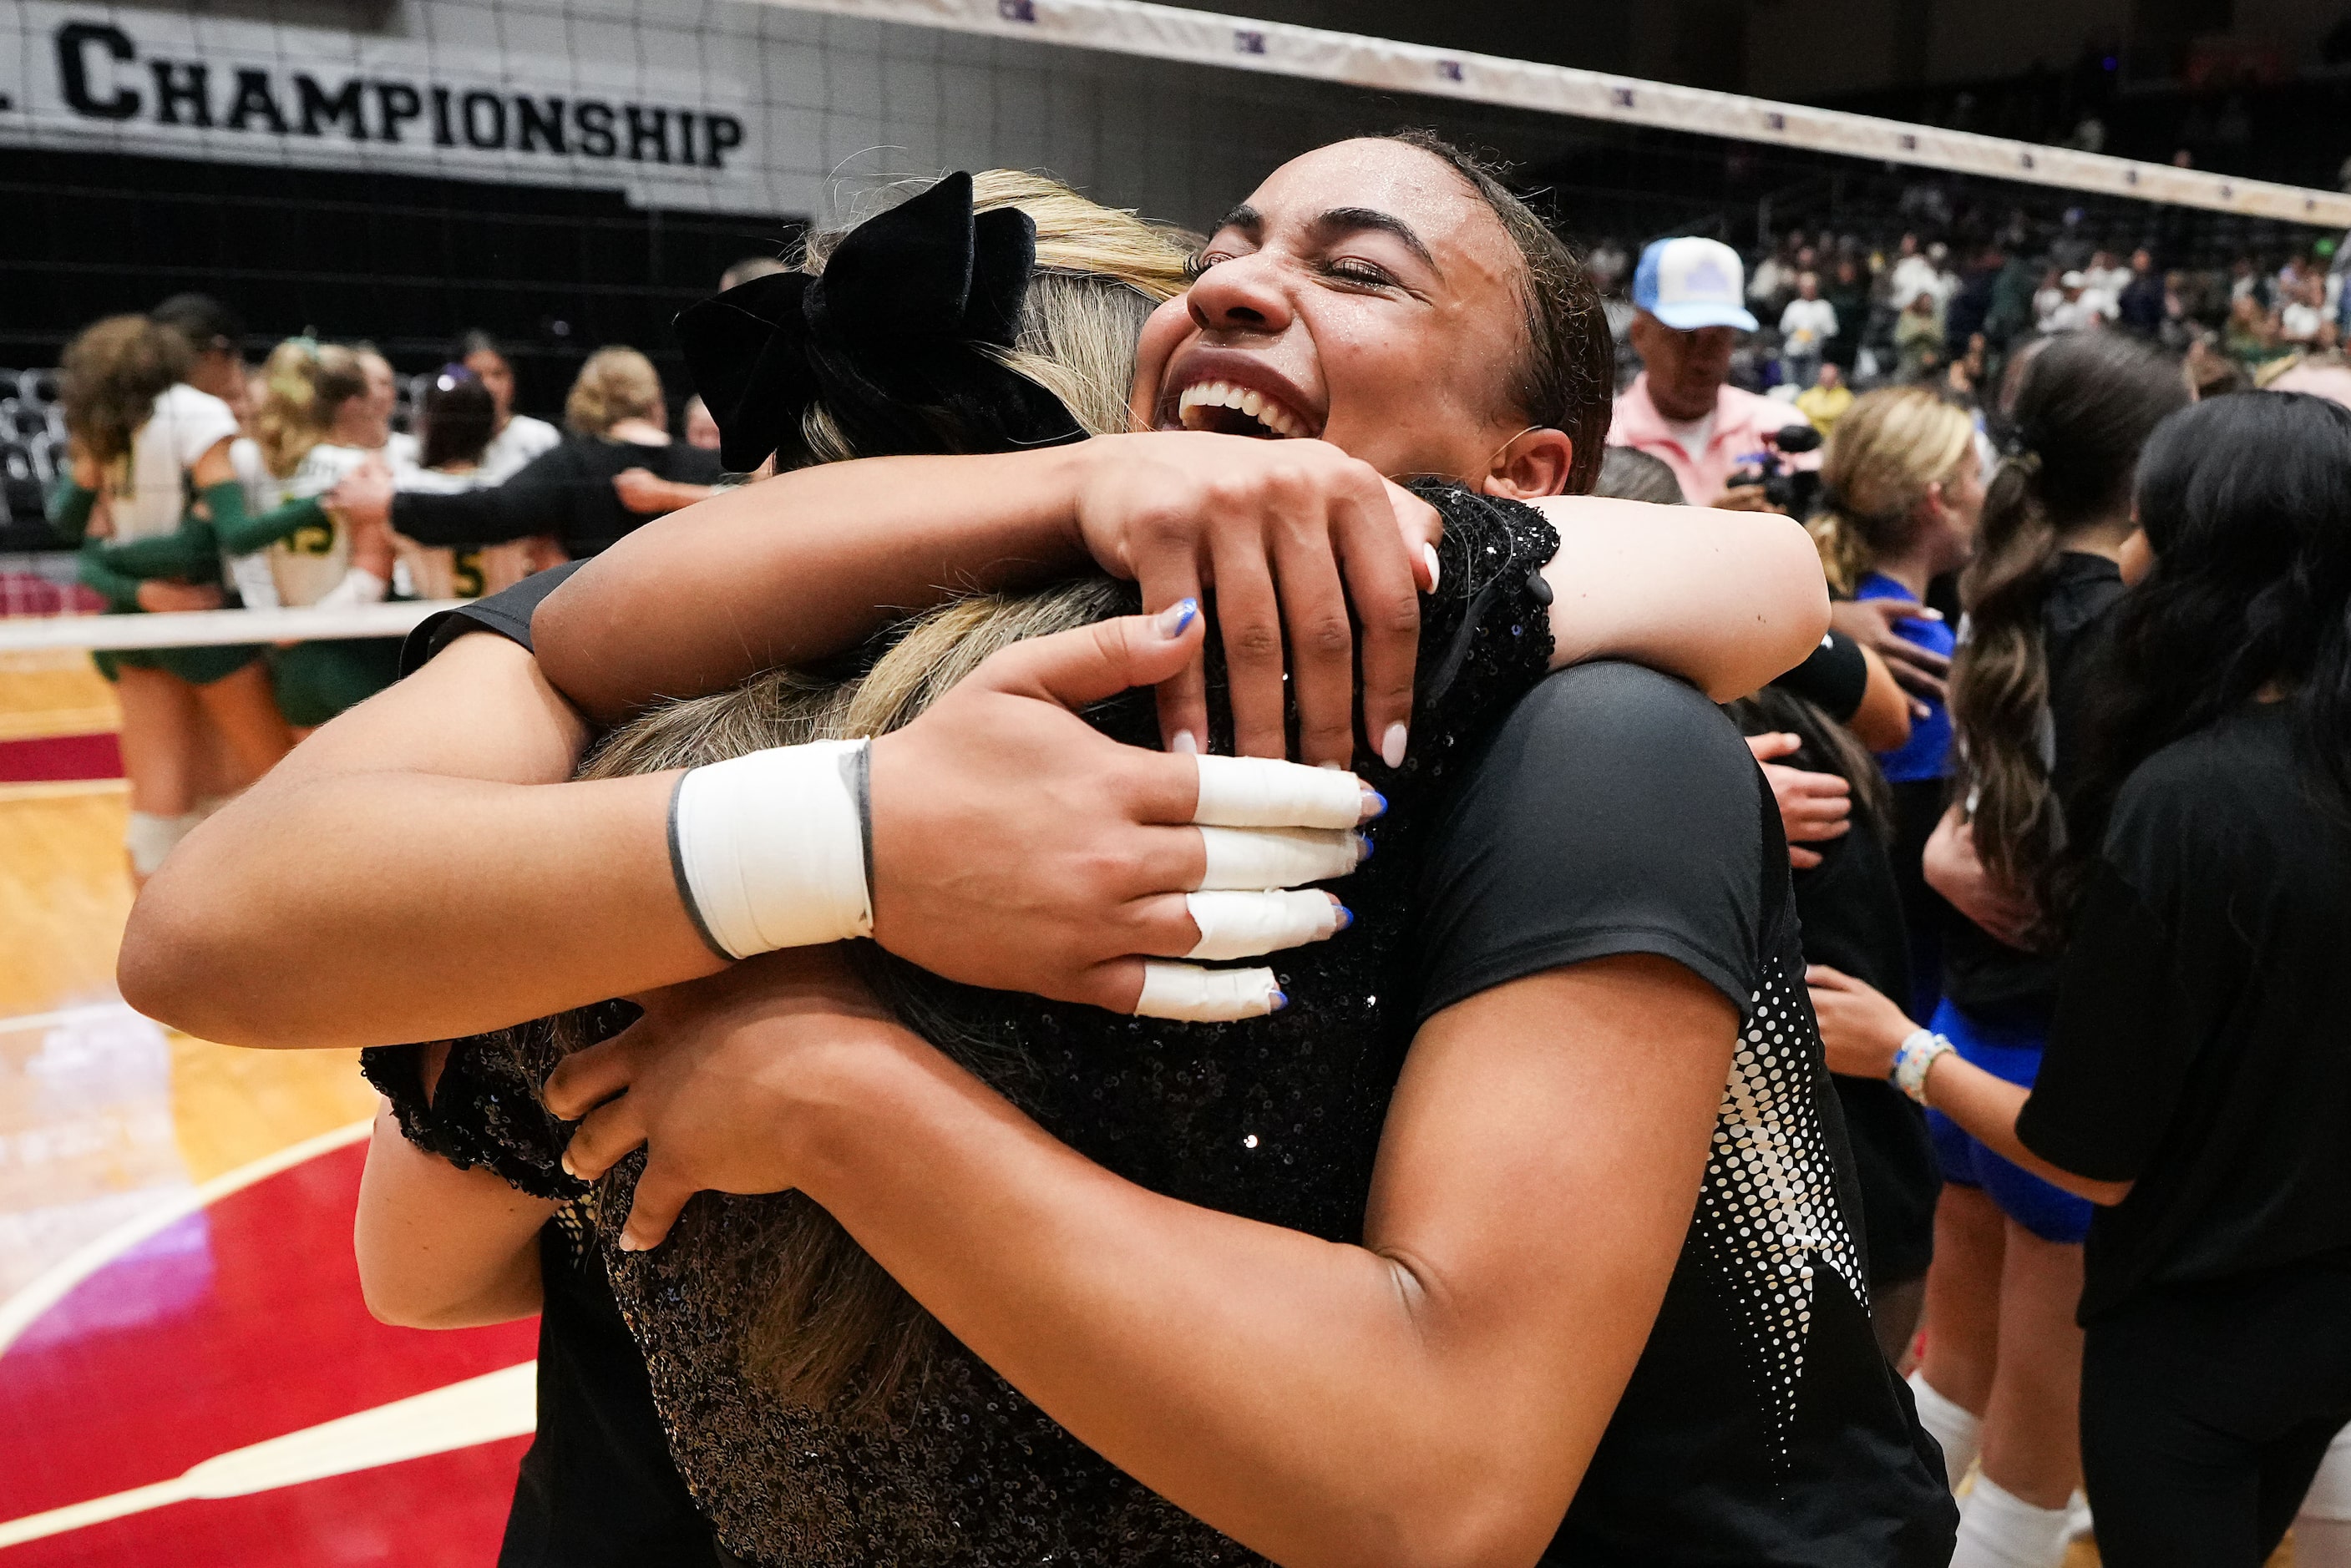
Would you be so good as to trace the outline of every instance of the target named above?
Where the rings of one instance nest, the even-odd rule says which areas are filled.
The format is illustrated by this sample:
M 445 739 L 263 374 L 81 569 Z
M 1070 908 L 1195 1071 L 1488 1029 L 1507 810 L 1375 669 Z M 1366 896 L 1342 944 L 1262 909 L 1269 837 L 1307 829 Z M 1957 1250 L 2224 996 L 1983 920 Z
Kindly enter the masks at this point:
M 811 741 L 691 769 L 670 797 L 686 912 L 731 959 L 872 936 L 865 741 Z

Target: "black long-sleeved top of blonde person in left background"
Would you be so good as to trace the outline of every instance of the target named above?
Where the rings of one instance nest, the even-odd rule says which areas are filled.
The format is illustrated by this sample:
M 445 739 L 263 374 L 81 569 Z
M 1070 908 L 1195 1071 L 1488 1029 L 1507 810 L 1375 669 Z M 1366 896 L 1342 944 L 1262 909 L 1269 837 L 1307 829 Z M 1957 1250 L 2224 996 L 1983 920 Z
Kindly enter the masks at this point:
M 393 529 L 423 545 L 494 545 L 552 534 L 564 555 L 585 559 L 651 522 L 621 505 L 611 489 L 623 468 L 647 468 L 677 484 L 717 484 L 724 475 L 715 451 L 684 442 L 644 447 L 574 435 L 541 451 L 505 484 L 454 496 L 400 491 L 393 496 Z

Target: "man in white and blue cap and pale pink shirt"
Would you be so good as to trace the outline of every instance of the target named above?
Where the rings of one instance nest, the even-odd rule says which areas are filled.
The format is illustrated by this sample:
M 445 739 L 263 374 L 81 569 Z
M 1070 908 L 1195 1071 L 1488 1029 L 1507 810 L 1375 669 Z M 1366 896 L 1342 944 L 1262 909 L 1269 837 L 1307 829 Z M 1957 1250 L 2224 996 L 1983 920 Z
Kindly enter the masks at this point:
M 1681 480 L 1690 505 L 1763 512 L 1770 503 L 1761 484 L 1730 487 L 1740 468 L 1754 468 L 1766 430 L 1806 423 L 1784 402 L 1730 386 L 1730 350 L 1737 334 L 1754 331 L 1744 303 L 1747 268 L 1721 240 L 1657 240 L 1641 252 L 1632 280 L 1632 346 L 1641 374 L 1617 395 L 1608 425 L 1610 447 L 1634 447 L 1660 458 Z M 1794 458 L 1810 468 L 1820 454 Z

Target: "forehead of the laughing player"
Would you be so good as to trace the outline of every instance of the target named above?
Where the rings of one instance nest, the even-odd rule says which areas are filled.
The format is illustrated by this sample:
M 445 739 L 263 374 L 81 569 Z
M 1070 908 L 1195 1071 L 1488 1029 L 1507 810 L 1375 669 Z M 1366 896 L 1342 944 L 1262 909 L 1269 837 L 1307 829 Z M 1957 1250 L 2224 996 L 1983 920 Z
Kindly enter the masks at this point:
M 1373 136 L 1314 148 L 1274 169 L 1248 197 L 1265 230 L 1302 228 L 1326 212 L 1357 207 L 1401 219 L 1453 273 L 1507 270 L 1509 235 L 1486 200 L 1451 165 L 1401 141 Z

